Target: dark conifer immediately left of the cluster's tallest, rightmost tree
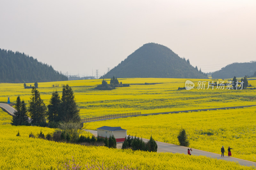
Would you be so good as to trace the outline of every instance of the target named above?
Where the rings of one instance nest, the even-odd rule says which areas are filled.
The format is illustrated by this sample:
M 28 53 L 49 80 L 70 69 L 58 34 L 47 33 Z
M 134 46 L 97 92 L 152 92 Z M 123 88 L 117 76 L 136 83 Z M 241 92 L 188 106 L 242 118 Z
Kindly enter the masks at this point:
M 60 121 L 60 96 L 58 91 L 52 92 L 52 97 L 50 99 L 50 103 L 47 106 L 48 111 L 46 113 L 47 119 L 49 122 L 59 122 Z

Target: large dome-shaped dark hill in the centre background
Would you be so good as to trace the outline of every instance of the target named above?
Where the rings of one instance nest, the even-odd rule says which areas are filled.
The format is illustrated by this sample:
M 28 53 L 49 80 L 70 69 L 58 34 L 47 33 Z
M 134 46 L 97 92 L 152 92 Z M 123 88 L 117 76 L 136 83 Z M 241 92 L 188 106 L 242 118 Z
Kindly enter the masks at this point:
M 208 78 L 170 48 L 144 44 L 101 78 Z

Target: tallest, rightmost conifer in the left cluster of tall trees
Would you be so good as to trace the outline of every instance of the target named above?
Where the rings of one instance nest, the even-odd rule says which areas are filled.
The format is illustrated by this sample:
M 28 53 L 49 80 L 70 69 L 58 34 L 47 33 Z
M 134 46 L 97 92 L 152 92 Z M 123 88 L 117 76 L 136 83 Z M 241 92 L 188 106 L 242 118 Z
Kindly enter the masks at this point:
M 73 90 L 68 86 L 68 84 L 66 86 L 64 85 L 61 96 L 61 120 L 65 122 L 79 122 L 81 120 L 79 111 Z

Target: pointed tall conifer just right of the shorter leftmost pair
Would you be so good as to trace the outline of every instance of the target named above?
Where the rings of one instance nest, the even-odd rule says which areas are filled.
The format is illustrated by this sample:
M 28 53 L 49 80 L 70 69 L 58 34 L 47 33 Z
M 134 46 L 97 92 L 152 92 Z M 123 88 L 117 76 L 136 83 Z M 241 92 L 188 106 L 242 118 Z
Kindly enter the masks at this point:
M 32 88 L 32 96 L 30 97 L 28 112 L 30 113 L 31 123 L 39 125 L 46 122 L 45 112 L 46 106 L 44 101 L 40 97 L 40 93 L 37 89 Z

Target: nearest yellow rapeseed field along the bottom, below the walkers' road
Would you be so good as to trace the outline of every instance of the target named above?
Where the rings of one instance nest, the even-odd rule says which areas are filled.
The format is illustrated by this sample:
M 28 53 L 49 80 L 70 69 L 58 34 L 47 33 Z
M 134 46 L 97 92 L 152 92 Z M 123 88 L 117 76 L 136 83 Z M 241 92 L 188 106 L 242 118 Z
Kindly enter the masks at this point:
M 61 168 L 61 164 L 71 160 L 85 168 L 87 162 L 94 160 L 105 164 L 130 165 L 135 169 L 253 169 L 240 166 L 235 162 L 207 158 L 204 156 L 189 156 L 185 154 L 154 153 L 109 149 L 104 146 L 83 146 L 68 143 L 58 143 L 39 138 L 28 138 L 28 134 L 44 134 L 53 130 L 31 126 L 0 125 L 0 169 L 31 170 Z M 16 136 L 20 131 L 21 136 Z M 93 161 L 92 161 L 93 160 Z M 62 168 L 61 168 L 62 169 Z M 86 169 L 86 168 L 85 168 Z

